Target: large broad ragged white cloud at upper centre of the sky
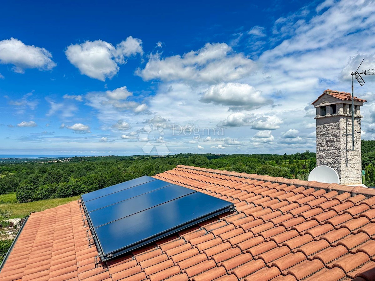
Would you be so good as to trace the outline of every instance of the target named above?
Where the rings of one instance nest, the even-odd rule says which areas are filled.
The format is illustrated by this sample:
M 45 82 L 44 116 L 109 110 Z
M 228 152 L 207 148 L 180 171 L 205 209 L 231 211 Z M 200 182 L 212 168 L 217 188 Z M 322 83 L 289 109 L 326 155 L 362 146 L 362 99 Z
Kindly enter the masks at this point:
M 144 69 L 136 75 L 145 81 L 183 80 L 186 82 L 218 83 L 233 81 L 249 75 L 255 63 L 242 53 L 235 53 L 225 43 L 207 43 L 198 51 L 190 51 L 182 56 L 162 58 L 160 53 L 151 54 Z

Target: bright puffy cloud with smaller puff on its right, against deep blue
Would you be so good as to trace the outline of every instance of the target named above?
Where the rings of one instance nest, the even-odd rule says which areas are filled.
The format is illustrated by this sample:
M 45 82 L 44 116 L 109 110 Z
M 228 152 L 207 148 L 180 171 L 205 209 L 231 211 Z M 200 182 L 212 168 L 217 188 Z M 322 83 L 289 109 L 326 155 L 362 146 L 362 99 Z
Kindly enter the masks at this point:
M 70 45 L 65 55 L 81 74 L 101 81 L 112 78 L 126 58 L 136 54 L 143 54 L 142 40 L 129 36 L 126 40 L 113 46 L 111 43 L 95 40 L 81 44 Z

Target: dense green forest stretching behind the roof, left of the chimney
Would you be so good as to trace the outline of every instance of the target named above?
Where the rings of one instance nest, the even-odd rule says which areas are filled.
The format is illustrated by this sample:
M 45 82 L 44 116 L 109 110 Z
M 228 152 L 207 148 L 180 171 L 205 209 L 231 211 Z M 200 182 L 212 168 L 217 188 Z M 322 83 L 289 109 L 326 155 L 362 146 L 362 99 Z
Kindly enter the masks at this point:
M 307 179 L 316 154 L 179 154 L 166 157 L 74 157 L 69 162 L 0 165 L 0 194 L 16 192 L 18 202 L 70 197 L 177 165 Z

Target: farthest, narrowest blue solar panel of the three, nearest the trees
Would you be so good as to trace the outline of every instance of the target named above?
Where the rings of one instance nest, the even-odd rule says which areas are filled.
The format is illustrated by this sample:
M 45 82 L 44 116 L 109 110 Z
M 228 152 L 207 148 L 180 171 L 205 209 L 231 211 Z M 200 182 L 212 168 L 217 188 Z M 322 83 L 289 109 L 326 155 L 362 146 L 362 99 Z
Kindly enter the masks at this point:
M 165 187 L 167 185 L 171 185 L 171 184 L 169 182 L 160 181 L 160 179 L 156 179 L 155 181 L 146 182 L 142 185 L 129 187 L 124 190 L 117 191 L 115 193 L 111 193 L 106 196 L 102 196 L 102 197 L 86 202 L 85 203 L 86 210 L 87 212 L 91 212 L 96 209 L 100 209 L 105 206 L 109 206 L 114 203 L 118 203 L 118 202 L 130 199 L 132 197 L 139 196 L 141 194 Z

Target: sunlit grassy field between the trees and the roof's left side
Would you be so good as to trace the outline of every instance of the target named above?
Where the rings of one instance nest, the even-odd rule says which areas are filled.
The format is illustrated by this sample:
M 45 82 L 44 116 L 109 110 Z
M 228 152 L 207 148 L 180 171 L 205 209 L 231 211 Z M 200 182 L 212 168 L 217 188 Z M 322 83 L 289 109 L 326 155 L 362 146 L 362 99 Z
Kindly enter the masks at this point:
M 22 218 L 26 215 L 29 215 L 30 212 L 40 212 L 45 209 L 54 208 L 56 206 L 66 204 L 66 203 L 69 203 L 71 201 L 74 201 L 80 198 L 80 196 L 73 196 L 73 197 L 66 197 L 66 198 L 39 200 L 39 201 L 27 202 L 27 203 L 17 203 L 17 202 L 12 202 L 12 198 L 13 198 L 12 196 L 14 196 L 15 198 L 15 193 L 0 195 L 0 202 L 1 200 L 4 200 L 3 197 L 8 198 L 10 200 L 10 202 L 8 203 L 0 203 L 1 211 L 11 212 L 11 215 L 9 218 Z M 6 219 L 6 218 L 0 215 L 0 219 Z

